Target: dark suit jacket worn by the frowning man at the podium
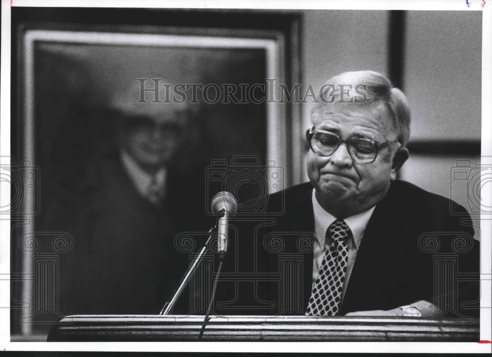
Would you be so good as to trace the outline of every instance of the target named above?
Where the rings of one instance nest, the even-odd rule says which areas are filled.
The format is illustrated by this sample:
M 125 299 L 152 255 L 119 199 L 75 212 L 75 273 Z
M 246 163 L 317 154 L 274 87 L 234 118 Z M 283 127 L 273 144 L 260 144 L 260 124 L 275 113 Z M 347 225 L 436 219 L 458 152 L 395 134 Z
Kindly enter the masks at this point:
M 235 271 L 254 270 L 258 278 L 243 291 L 240 283 L 224 287 L 229 295 L 223 300 L 239 307 L 224 313 L 305 314 L 315 239 L 311 194 L 310 183 L 277 192 L 259 209 L 264 213 L 238 215 L 232 223 L 239 238 L 233 238 L 233 257 L 228 259 L 235 260 Z M 282 214 L 269 213 L 278 207 L 283 207 Z M 478 299 L 478 276 L 475 284 L 458 281 L 459 274 L 479 272 L 478 241 L 470 224 L 466 210 L 453 201 L 408 182 L 393 182 L 369 220 L 339 314 L 427 300 L 443 312 L 477 315 L 476 309 L 461 308 L 452 300 Z M 461 247 L 460 240 L 465 242 Z M 436 241 L 439 247 L 433 251 Z M 246 296 L 249 300 L 242 300 Z

